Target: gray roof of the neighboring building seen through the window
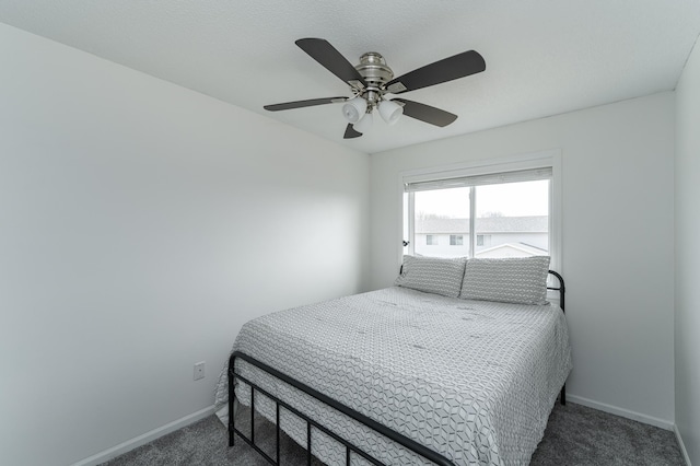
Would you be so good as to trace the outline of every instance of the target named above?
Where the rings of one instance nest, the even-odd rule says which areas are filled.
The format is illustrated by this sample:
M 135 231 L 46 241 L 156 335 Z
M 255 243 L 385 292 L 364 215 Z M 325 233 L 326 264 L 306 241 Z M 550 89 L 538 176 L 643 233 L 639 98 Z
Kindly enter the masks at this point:
M 547 215 L 477 218 L 478 233 L 546 233 Z M 469 233 L 469 219 L 416 219 L 416 233 Z

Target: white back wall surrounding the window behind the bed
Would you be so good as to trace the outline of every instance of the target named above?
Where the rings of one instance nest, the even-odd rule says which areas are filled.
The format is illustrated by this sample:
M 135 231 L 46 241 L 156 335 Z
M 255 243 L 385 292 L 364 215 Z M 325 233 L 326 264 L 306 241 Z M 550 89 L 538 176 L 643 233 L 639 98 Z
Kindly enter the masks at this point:
M 670 428 L 673 93 L 373 154 L 372 287 L 390 284 L 398 271 L 399 172 L 549 149 L 562 153 L 563 276 L 574 360 L 568 393 Z

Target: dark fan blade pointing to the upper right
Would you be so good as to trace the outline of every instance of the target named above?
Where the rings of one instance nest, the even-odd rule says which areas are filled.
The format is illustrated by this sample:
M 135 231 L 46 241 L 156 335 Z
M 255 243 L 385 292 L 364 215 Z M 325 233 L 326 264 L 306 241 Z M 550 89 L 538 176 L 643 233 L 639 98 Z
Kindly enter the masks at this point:
M 480 73 L 483 70 L 486 61 L 481 55 L 474 50 L 463 51 L 393 79 L 386 83 L 386 90 L 399 94 Z

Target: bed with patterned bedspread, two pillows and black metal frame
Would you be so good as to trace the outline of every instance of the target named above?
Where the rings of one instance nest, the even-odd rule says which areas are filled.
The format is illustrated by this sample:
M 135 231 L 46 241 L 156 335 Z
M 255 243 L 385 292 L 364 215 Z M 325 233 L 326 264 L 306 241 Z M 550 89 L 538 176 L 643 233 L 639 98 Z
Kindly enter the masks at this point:
M 280 462 L 235 428 L 241 404 L 310 464 L 528 464 L 572 368 L 548 266 L 405 257 L 395 287 L 248 322 L 217 386 L 230 443 Z

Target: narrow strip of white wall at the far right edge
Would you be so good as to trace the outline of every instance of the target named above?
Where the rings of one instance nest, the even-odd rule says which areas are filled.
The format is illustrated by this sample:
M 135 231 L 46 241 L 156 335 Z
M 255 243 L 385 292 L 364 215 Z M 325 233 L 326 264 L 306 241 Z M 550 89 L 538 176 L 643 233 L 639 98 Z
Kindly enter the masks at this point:
M 676 424 L 700 464 L 700 46 L 676 88 Z

